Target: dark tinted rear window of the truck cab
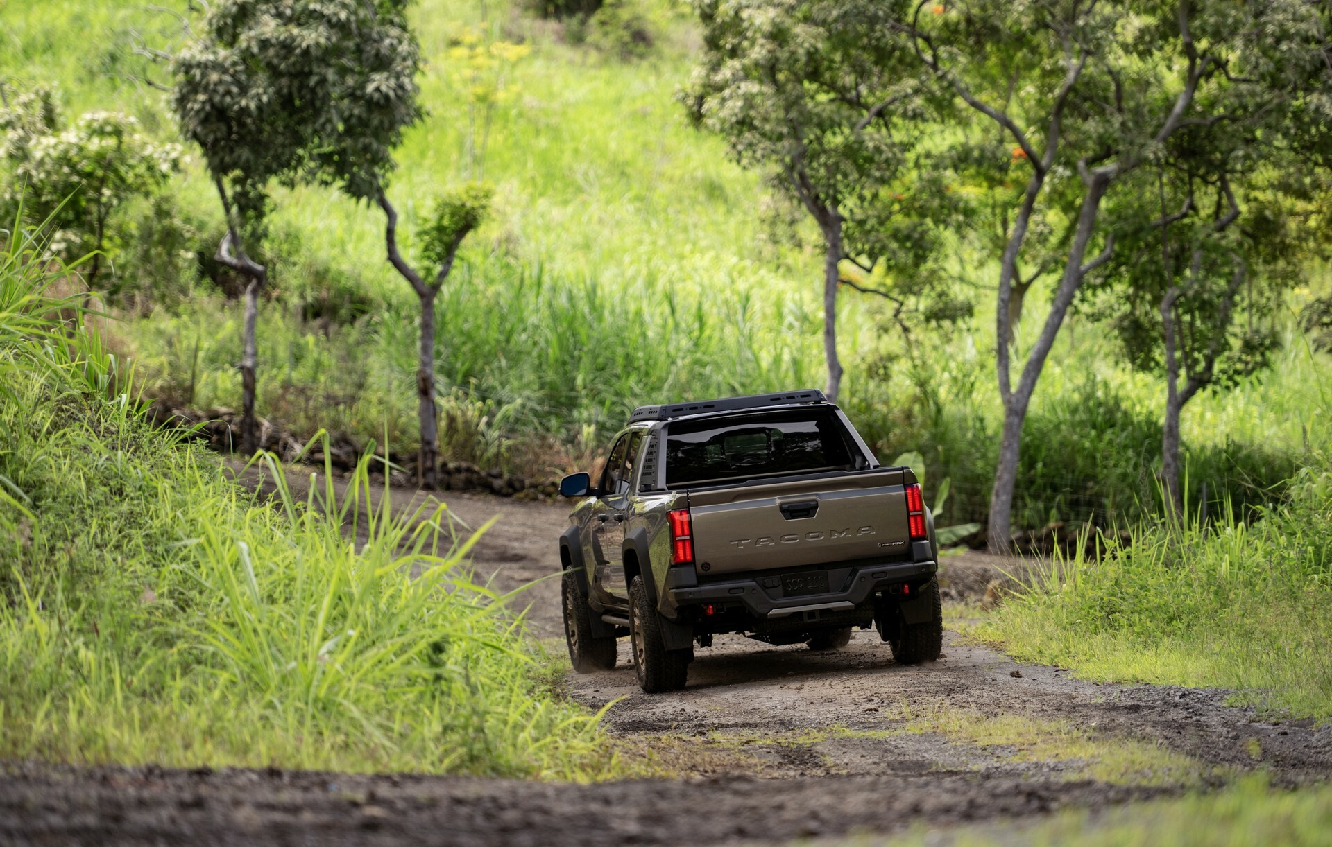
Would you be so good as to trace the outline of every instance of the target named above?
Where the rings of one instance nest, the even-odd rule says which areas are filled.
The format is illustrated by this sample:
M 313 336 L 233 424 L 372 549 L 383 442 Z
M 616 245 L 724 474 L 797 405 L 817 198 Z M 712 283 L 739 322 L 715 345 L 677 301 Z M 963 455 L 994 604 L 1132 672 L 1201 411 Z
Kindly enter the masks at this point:
M 671 424 L 666 487 L 735 482 L 863 465 L 831 409 L 765 412 Z

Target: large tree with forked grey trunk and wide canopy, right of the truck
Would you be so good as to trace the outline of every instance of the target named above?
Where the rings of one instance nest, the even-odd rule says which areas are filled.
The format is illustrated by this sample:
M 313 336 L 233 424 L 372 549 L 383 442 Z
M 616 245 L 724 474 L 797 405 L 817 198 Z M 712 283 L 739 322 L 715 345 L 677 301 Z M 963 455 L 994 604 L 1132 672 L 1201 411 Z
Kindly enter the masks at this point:
M 1083 282 L 1115 252 L 1115 232 L 1102 221 L 1107 193 L 1181 129 L 1231 123 L 1229 108 L 1257 109 L 1285 96 L 1284 63 L 1303 67 L 1321 55 L 1319 16 L 1305 0 L 956 0 L 916 3 L 896 24 L 922 65 L 1003 132 L 1027 172 L 999 256 L 995 353 L 1004 418 L 990 499 L 992 550 L 1011 545 L 1022 429 L 1042 369 Z M 1010 166 L 1004 160 L 988 168 Z M 1042 225 L 1055 233 L 1060 270 L 1014 385 L 1010 308 L 1028 285 L 1019 266 L 1048 261 Z

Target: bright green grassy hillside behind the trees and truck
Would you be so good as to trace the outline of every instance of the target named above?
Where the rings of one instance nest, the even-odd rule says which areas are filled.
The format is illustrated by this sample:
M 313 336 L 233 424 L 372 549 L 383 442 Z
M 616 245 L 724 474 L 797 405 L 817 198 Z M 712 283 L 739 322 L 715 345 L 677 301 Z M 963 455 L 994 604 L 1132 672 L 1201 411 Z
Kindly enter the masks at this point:
M 689 9 L 634 5 L 661 28 L 641 61 L 579 43 L 521 3 L 413 5 L 428 115 L 404 137 L 390 185 L 405 254 L 418 257 L 416 234 L 440 190 L 474 178 L 496 189 L 437 305 L 445 458 L 558 475 L 585 470 L 637 405 L 825 384 L 817 226 L 731 161 L 722 139 L 689 125 L 674 100 L 697 63 Z M 56 83 L 71 115 L 124 109 L 174 140 L 160 92 L 141 81 L 165 81 L 163 69 L 133 49 L 139 37 L 177 47 L 174 15 L 89 0 L 0 8 L 8 85 Z M 465 28 L 530 48 L 481 121 L 469 117 L 476 104 L 452 53 Z M 121 246 L 107 278 L 125 318 L 117 348 L 153 396 L 236 409 L 240 305 L 210 258 L 221 213 L 197 153 L 180 165 L 164 197 L 112 221 Z M 388 433 L 412 451 L 417 301 L 384 260 L 382 225 L 333 189 L 276 189 L 270 237 L 253 245 L 270 270 L 257 408 L 298 437 L 326 429 L 364 443 Z M 940 526 L 986 518 L 1002 427 L 986 293 L 998 270 L 992 256 L 974 254 L 959 268 L 956 293 L 975 300 L 975 318 L 918 332 L 914 356 L 890 301 L 850 289 L 838 301 L 840 402 L 882 459 L 920 454 Z M 1327 288 L 1325 273 L 1309 276 L 1317 290 L 1296 300 Z M 1047 297 L 1040 285 L 1028 294 L 1019 352 L 1039 333 Z M 1287 333 L 1271 373 L 1192 401 L 1191 493 L 1229 497 L 1241 514 L 1279 499 L 1303 439 L 1327 429 L 1304 398 L 1319 369 L 1325 360 L 1305 357 L 1303 337 Z M 1015 526 L 1152 514 L 1163 397 L 1159 377 L 1122 365 L 1111 333 L 1071 317 L 1032 400 Z

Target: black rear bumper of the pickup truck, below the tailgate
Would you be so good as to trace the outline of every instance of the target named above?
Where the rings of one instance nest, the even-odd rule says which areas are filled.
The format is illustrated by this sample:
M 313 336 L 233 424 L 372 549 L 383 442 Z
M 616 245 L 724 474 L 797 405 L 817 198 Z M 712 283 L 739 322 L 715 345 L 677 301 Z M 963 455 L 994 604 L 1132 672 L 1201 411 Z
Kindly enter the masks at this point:
M 891 565 L 846 565 L 829 567 L 829 585 L 838 590 L 827 594 L 782 597 L 777 577 L 753 577 L 709 582 L 707 585 L 673 589 L 667 586 L 667 605 L 674 609 L 703 603 L 741 603 L 759 619 L 781 619 L 806 611 L 838 611 L 868 602 L 878 591 L 894 585 L 928 577 L 939 570 L 934 561 L 894 562 Z

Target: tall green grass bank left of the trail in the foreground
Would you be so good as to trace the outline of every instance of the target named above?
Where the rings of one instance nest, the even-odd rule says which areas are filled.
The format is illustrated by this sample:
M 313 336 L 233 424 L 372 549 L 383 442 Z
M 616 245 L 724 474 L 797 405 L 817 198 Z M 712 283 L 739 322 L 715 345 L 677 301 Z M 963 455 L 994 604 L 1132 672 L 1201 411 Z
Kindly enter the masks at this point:
M 96 336 L 43 328 L 45 276 L 0 270 L 0 758 L 615 772 L 442 506 L 358 509 L 366 462 L 341 502 L 256 502 L 140 418 Z

